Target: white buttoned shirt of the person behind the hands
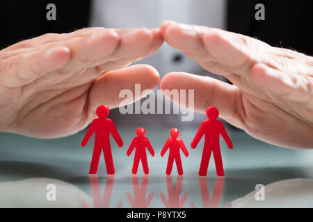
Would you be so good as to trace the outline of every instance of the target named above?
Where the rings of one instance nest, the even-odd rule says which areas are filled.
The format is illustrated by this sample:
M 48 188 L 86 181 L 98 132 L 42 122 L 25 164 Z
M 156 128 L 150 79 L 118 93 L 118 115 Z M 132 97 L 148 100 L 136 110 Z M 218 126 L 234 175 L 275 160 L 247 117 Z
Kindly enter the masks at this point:
M 225 0 L 93 0 L 90 26 L 106 28 L 157 28 L 161 22 L 173 20 L 185 24 L 197 24 L 225 29 L 225 15 Z M 166 43 L 152 56 L 134 62 L 134 64 L 136 63 L 152 65 L 152 67 L 159 71 L 160 77 L 170 71 L 186 71 L 191 74 L 211 76 L 197 62 L 187 58 Z M 223 79 L 221 77 L 219 78 Z M 170 116 L 170 118 L 166 118 L 166 121 L 161 121 L 164 117 L 157 117 L 160 121 L 154 121 L 154 123 L 177 124 L 177 121 L 180 119 L 177 114 L 167 114 L 167 116 Z M 146 123 L 146 118 L 149 121 L 151 121 L 151 118 L 153 119 L 151 116 L 143 117 L 141 115 L 140 118 L 135 118 L 136 123 L 138 121 Z M 203 119 L 203 116 L 195 115 L 196 124 L 199 123 L 200 119 Z M 128 119 L 122 121 L 128 121 Z

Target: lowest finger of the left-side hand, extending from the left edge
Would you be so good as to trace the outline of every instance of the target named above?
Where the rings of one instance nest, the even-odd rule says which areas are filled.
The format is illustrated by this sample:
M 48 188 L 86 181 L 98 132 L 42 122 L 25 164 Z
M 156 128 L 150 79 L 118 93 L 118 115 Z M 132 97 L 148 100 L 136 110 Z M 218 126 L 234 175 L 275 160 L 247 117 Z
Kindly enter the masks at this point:
M 70 49 L 56 46 L 43 51 L 24 53 L 0 61 L 0 85 L 19 87 L 31 83 L 70 60 Z

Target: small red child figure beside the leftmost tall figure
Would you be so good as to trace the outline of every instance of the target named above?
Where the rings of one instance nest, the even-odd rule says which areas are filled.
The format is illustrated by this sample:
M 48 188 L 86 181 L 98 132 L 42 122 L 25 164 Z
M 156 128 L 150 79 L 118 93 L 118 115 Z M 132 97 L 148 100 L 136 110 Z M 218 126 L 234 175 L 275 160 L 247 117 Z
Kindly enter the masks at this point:
M 149 142 L 149 139 L 145 137 L 144 128 L 138 128 L 136 130 L 136 134 L 137 137 L 134 137 L 133 141 L 131 142 L 131 145 L 129 146 L 126 152 L 126 155 L 129 156 L 136 147 L 134 164 L 131 173 L 137 174 L 139 161 L 141 160 L 141 164 L 143 164 L 143 173 L 149 174 L 149 167 L 147 165 L 147 154 L 145 153 L 145 148 L 147 148 L 152 157 L 154 156 L 154 150 Z

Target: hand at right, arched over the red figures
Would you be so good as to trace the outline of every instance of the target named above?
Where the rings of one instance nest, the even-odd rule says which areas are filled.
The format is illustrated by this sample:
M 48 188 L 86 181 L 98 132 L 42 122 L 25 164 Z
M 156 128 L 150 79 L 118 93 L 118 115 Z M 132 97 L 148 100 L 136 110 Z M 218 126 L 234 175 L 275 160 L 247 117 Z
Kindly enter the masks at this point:
M 162 78 L 161 89 L 194 89 L 196 112 L 215 106 L 252 137 L 313 148 L 312 57 L 205 26 L 163 22 L 161 33 L 170 46 L 234 84 L 173 72 Z

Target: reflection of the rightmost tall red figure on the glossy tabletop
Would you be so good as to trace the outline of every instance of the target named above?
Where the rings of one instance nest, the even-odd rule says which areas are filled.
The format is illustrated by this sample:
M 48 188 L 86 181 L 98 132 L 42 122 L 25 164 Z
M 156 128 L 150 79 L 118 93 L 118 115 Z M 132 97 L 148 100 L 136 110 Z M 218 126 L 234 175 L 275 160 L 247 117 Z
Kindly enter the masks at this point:
M 220 197 L 222 196 L 224 178 L 216 179 L 212 198 L 210 198 L 207 178 L 199 178 L 199 183 L 203 208 L 218 208 L 220 206 Z M 191 207 L 195 208 L 195 203 L 191 202 Z M 226 205 L 225 207 L 228 208 L 228 205 Z

